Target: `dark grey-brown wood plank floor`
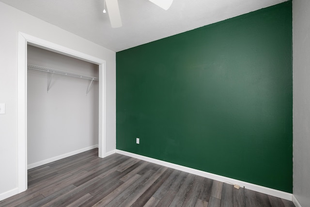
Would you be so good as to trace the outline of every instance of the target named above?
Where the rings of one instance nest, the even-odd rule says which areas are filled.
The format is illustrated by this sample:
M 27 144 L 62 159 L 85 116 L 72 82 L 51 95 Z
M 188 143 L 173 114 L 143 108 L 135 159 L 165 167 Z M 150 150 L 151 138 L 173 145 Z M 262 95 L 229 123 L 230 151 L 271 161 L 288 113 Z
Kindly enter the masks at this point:
M 291 201 L 98 149 L 28 171 L 0 207 L 294 207 Z

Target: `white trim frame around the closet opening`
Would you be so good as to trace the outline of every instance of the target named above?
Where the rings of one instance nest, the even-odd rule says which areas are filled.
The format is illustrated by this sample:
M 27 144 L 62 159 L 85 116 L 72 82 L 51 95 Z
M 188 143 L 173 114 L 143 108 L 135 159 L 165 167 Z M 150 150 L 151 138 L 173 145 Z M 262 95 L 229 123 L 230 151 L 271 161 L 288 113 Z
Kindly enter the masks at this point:
M 23 32 L 18 32 L 17 51 L 17 185 L 18 193 L 27 190 L 27 45 L 54 51 L 99 65 L 99 157 L 106 153 L 106 61 L 66 48 Z

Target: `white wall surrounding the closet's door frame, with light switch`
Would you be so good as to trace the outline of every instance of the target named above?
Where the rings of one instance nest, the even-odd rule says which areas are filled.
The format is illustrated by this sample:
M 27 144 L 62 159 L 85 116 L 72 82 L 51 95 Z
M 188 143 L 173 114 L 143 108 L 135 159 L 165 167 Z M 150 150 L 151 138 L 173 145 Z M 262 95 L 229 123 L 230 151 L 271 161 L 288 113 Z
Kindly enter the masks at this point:
M 17 189 L 18 31 L 107 61 L 107 152 L 115 149 L 115 52 L 0 2 L 0 200 Z

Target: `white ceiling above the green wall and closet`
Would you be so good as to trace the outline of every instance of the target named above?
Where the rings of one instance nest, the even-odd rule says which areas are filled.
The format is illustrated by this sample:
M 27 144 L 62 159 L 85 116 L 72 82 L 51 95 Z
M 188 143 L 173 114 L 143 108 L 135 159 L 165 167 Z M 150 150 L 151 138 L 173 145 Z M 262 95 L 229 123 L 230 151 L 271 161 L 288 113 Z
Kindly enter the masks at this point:
M 167 11 L 148 0 L 118 0 L 121 28 L 111 28 L 103 0 L 0 1 L 118 52 L 286 0 L 174 0 Z

